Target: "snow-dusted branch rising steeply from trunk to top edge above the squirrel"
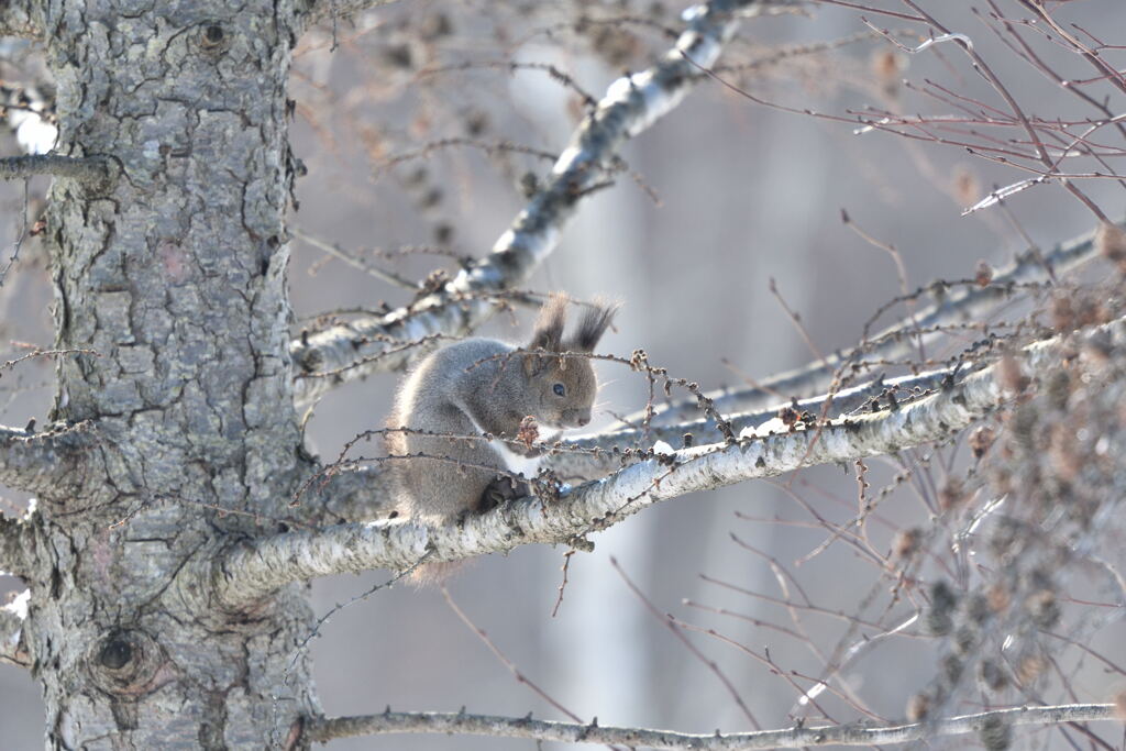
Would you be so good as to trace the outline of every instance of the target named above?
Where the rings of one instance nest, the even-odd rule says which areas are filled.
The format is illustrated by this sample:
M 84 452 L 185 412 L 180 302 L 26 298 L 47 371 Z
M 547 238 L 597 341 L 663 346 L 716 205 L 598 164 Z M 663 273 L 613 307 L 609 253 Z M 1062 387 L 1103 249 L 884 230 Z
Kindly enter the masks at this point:
M 321 3 L 333 8 L 333 3 Z M 558 244 L 579 200 L 605 179 L 622 143 L 671 111 L 700 80 L 696 65 L 711 65 L 734 34 L 740 14 L 756 0 L 714 0 L 686 11 L 688 28 L 661 61 L 616 80 L 563 150 L 492 251 L 436 294 L 382 316 L 360 318 L 303 336 L 291 346 L 295 401 L 307 406 L 334 386 L 373 373 L 401 369 L 418 351 L 406 342 L 435 334 L 462 334 L 495 312 L 494 294 L 519 286 Z M 695 62 L 689 62 L 688 59 Z

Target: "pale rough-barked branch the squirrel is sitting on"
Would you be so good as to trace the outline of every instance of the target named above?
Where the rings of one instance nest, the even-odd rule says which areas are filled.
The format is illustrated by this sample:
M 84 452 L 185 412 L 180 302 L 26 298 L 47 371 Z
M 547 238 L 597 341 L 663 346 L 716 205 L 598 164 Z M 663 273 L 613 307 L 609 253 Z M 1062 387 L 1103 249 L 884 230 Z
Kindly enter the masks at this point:
M 1065 354 L 1088 347 L 1106 357 L 1124 342 L 1126 319 L 1118 319 L 1030 345 L 915 401 L 808 428 L 795 424 L 793 432 L 784 435 L 741 436 L 722 444 L 670 449 L 602 480 L 564 488 L 558 498 L 509 502 L 471 516 L 464 524 L 342 524 L 247 542 L 216 557 L 203 574 L 211 581 L 197 583 L 209 584 L 224 607 L 239 608 L 292 582 L 369 569 L 403 570 L 423 556 L 455 561 L 529 543 L 583 546 L 589 533 L 658 501 L 944 439 L 1013 399 L 1011 383 L 1026 383 L 1026 377 L 1031 383 L 1060 368 Z

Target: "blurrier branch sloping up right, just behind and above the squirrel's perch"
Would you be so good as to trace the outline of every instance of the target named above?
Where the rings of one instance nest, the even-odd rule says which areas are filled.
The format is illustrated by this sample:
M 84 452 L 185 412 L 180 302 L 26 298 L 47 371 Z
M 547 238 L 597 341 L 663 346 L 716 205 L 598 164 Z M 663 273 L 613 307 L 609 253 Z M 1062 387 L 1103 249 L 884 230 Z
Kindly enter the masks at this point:
M 824 361 L 816 360 L 796 370 L 763 378 L 761 384 L 753 388 L 717 390 L 705 395 L 713 400 L 716 410 L 726 413 L 760 410 L 777 400 L 779 393 L 797 395 L 823 391 L 833 372 L 842 364 L 893 358 L 911 351 L 917 343 L 917 339 L 909 336 L 913 329 L 928 329 L 978 319 L 993 305 L 1008 299 L 1013 285 L 1046 281 L 1052 274 L 1065 274 L 1085 263 L 1098 254 L 1094 234 L 1091 232 L 1063 242 L 1047 256 L 1024 253 L 1013 263 L 995 274 L 988 287 L 968 287 L 949 293 L 935 304 L 884 329 L 873 337 L 874 340 L 879 340 L 877 345 L 868 347 L 861 345 L 831 355 Z M 904 336 L 899 337 L 896 333 Z M 922 339 L 927 342 L 938 336 L 937 333 L 923 336 Z M 650 424 L 668 426 L 696 414 L 698 414 L 696 399 L 686 399 L 658 409 Z M 625 420 L 638 423 L 643 419 L 644 414 L 637 412 L 626 417 Z

